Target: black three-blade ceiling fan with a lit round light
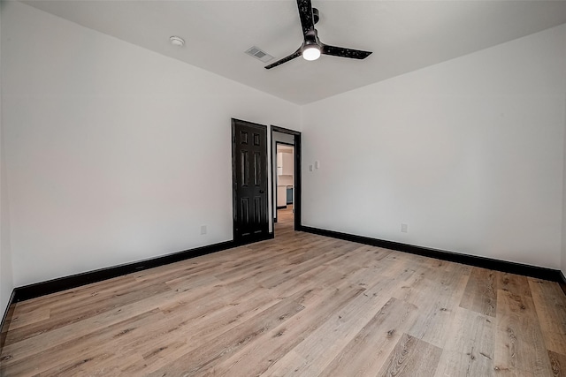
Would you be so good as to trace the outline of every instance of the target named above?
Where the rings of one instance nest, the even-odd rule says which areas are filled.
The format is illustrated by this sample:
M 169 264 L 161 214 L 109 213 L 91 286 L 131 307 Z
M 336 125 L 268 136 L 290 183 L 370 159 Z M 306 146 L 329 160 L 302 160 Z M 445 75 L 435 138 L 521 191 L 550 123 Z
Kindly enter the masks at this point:
M 272 69 L 280 64 L 287 63 L 295 57 L 302 57 L 305 60 L 317 60 L 320 54 L 332 55 L 334 57 L 349 57 L 352 59 L 365 59 L 369 57 L 371 51 L 360 49 L 345 49 L 343 47 L 329 46 L 318 39 L 318 32 L 315 24 L 318 22 L 319 14 L 317 8 L 313 8 L 310 0 L 297 0 L 299 7 L 299 19 L 301 19 L 302 34 L 304 41 L 299 49 L 288 57 L 283 57 L 277 62 L 266 65 L 265 69 Z

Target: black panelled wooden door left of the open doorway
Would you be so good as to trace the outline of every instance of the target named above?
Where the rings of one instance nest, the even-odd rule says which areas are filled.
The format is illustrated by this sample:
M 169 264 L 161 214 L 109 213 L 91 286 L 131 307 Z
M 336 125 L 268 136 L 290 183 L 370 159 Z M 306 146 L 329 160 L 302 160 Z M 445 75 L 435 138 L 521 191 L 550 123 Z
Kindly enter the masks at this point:
M 232 172 L 234 241 L 267 238 L 266 126 L 232 119 Z

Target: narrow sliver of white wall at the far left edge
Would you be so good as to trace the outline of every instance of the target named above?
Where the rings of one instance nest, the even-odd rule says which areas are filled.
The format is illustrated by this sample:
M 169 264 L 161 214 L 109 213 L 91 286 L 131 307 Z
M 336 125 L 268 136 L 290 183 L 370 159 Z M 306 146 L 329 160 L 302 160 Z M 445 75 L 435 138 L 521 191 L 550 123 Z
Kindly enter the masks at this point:
M 2 72 L 2 13 L 4 5 L 0 4 L 0 72 Z M 0 92 L 2 91 L 2 75 L 0 75 Z M 3 112 L 0 101 L 0 318 L 8 307 L 11 291 L 14 289 L 11 270 L 10 251 L 10 218 L 8 196 L 6 190 L 6 167 L 4 158 Z

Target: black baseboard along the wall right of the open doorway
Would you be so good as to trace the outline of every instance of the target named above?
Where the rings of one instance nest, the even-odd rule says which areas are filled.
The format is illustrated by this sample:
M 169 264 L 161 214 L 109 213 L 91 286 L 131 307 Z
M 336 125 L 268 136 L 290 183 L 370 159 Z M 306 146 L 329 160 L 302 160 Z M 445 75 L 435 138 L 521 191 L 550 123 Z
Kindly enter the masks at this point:
M 562 275 L 562 272 L 557 269 L 529 266 L 529 265 L 516 263 L 516 262 L 509 262 L 505 260 L 493 260 L 491 258 L 486 258 L 486 257 L 478 257 L 478 256 L 462 254 L 462 253 L 447 252 L 444 250 L 431 249 L 423 246 L 407 245 L 394 241 L 386 241 L 384 239 L 356 236 L 348 233 L 340 233 L 338 231 L 333 231 L 333 230 L 322 230 L 308 226 L 302 226 L 301 230 L 308 233 L 317 234 L 320 236 L 344 239 L 346 241 L 357 242 L 359 244 L 364 244 L 364 245 L 384 247 L 386 249 L 396 250 L 403 253 L 417 254 L 425 257 L 436 258 L 439 260 L 448 260 L 448 261 L 462 263 L 470 266 L 476 266 L 480 268 L 489 268 L 501 272 L 507 272 L 510 274 L 531 276 L 531 277 L 536 277 L 538 279 L 550 280 L 552 282 L 566 283 L 566 280 L 563 280 L 564 275 Z M 562 290 L 564 289 L 565 288 L 562 287 Z

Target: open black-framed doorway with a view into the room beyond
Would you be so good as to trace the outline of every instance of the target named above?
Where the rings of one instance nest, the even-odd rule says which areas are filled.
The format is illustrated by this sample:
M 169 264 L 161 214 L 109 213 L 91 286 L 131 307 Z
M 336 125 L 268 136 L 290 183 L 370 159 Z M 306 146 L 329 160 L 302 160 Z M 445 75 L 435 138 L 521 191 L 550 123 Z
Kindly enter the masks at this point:
M 272 125 L 273 230 L 301 228 L 301 132 Z

